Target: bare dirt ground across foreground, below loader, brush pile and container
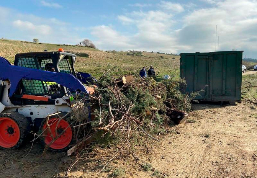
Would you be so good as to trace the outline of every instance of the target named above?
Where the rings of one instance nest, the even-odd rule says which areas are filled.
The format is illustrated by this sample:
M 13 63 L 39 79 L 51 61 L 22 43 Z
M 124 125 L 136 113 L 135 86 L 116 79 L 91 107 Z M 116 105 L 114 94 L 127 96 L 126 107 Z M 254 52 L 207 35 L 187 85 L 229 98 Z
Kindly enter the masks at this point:
M 256 106 L 194 104 L 187 122 L 167 127 L 160 143 L 150 143 L 148 152 L 138 154 L 157 171 L 157 177 L 255 178 L 257 177 L 257 110 Z M 196 123 L 194 123 L 196 122 Z M 75 159 L 65 153 L 48 152 L 34 143 L 17 151 L 0 151 L 0 177 L 63 177 Z M 115 149 L 98 149 L 79 161 L 70 177 L 108 177 L 96 172 L 102 160 L 108 160 Z M 99 155 L 109 157 L 100 158 Z M 27 155 L 27 156 L 26 156 Z M 93 165 L 93 166 L 92 166 Z M 123 168 L 125 177 L 151 177 L 131 155 L 118 156 L 111 167 Z M 157 174 L 159 173 L 159 174 Z M 155 176 L 155 177 L 156 177 Z

